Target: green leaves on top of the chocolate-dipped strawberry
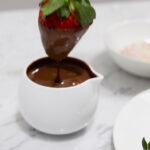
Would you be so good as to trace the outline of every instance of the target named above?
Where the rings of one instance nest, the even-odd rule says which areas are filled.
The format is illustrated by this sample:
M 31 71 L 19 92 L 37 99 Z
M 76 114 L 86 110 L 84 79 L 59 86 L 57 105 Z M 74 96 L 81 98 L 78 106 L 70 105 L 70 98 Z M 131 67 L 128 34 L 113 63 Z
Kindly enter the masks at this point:
M 73 11 L 82 27 L 88 26 L 96 17 L 96 12 L 91 6 L 89 0 L 43 0 L 47 3 L 41 7 L 43 18 L 57 12 L 58 17 L 62 20 L 68 18 Z

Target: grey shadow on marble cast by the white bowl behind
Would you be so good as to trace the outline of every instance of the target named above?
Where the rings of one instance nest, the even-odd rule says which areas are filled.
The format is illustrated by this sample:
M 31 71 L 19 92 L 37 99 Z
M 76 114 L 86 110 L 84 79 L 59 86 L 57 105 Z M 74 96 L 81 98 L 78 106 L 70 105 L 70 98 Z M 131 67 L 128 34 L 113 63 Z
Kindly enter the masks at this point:
M 150 88 L 150 79 L 137 77 L 120 69 L 106 50 L 93 58 L 91 65 L 104 75 L 102 86 L 114 94 L 131 96 Z

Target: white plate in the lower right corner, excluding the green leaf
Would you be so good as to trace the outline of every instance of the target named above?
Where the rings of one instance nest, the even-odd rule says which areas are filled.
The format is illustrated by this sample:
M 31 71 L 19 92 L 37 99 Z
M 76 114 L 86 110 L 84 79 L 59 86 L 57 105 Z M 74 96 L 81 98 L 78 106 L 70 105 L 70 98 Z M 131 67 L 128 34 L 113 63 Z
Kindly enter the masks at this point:
M 116 150 L 143 150 L 143 137 L 150 140 L 150 90 L 137 95 L 125 106 L 113 132 Z

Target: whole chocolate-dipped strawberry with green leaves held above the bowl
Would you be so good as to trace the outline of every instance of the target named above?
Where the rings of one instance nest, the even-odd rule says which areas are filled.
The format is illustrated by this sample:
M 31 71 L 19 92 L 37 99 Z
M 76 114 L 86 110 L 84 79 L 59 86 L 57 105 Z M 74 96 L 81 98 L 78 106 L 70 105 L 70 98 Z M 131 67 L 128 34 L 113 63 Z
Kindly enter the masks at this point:
M 95 18 L 89 0 L 43 0 L 39 13 L 39 28 L 47 55 L 64 59 Z

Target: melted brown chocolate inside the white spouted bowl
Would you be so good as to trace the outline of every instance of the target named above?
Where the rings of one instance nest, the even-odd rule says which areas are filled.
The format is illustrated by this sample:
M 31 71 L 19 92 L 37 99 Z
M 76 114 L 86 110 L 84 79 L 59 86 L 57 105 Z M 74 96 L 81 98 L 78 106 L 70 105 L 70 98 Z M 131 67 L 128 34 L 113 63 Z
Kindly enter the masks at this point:
M 37 84 L 55 88 L 76 86 L 96 77 L 86 63 L 70 57 L 61 62 L 60 83 L 56 82 L 57 63 L 49 57 L 33 62 L 27 68 L 27 75 Z

